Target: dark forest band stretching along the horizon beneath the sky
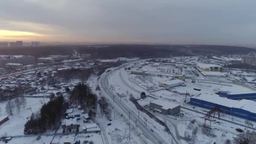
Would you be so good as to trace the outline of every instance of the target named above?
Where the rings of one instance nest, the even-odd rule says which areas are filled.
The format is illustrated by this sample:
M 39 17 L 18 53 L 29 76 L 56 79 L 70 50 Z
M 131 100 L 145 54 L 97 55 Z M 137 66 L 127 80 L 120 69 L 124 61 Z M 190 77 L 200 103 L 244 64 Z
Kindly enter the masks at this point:
M 165 57 L 191 56 L 198 54 L 247 54 L 252 48 L 227 45 L 55 45 L 23 48 L 0 48 L 0 54 L 6 55 L 33 55 L 35 58 L 48 55 L 72 55 L 73 50 L 79 53 L 91 53 L 92 58 L 117 57 Z

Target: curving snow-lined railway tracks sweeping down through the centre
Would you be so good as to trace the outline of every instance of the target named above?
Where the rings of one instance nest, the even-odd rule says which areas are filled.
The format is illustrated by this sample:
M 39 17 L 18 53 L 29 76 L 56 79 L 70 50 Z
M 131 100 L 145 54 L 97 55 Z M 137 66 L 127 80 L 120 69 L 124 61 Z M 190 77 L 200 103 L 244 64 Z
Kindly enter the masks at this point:
M 117 68 L 123 68 L 127 66 L 127 64 Z M 117 70 L 115 69 L 115 70 Z M 107 76 L 114 72 L 115 70 L 112 70 L 111 72 L 107 73 L 106 75 L 101 75 L 101 79 L 100 79 L 100 85 L 101 88 L 103 88 L 107 95 L 109 96 L 110 99 L 113 99 L 114 96 L 114 101 L 117 104 L 118 107 L 120 107 L 120 109 L 123 110 L 123 112 L 125 112 L 126 115 L 129 115 L 130 112 L 130 118 L 131 120 L 136 123 L 138 127 L 141 129 L 141 131 L 143 132 L 143 134 L 150 139 L 154 144 L 159 144 L 159 142 L 161 142 L 162 144 L 166 144 L 166 142 L 157 134 L 152 132 L 149 127 L 147 127 L 146 125 L 144 125 L 144 122 L 141 119 L 138 119 L 137 115 L 133 112 L 133 110 L 131 110 L 129 107 L 127 107 L 122 101 L 120 101 L 119 98 L 117 98 L 118 96 L 115 95 L 115 93 L 112 93 L 112 91 L 107 87 Z

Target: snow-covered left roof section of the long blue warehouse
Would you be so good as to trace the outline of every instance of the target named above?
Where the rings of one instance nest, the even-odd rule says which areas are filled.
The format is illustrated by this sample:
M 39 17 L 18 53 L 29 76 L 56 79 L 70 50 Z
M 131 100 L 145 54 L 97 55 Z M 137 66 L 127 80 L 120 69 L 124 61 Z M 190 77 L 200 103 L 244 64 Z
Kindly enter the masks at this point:
M 218 104 L 221 106 L 226 106 L 226 107 L 233 107 L 238 101 L 233 100 L 233 99 L 227 99 L 224 97 L 220 97 L 217 95 L 209 95 L 209 94 L 200 94 L 197 96 L 191 97 L 193 99 L 200 99 L 203 101 L 208 101 L 214 104 Z

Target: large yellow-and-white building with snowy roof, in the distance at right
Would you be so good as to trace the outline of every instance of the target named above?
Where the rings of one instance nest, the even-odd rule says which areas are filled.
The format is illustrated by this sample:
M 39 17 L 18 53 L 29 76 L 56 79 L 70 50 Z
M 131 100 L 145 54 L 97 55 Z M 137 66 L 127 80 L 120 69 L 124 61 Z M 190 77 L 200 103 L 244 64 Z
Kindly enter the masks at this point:
M 197 64 L 199 71 L 224 72 L 225 68 L 216 64 Z

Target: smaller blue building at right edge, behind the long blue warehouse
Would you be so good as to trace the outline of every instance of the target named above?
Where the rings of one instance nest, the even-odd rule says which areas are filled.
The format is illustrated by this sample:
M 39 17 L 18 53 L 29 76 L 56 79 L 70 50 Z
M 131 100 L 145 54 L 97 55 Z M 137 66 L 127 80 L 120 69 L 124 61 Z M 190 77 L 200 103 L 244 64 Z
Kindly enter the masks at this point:
M 256 91 L 219 91 L 219 96 L 227 99 L 256 99 Z

